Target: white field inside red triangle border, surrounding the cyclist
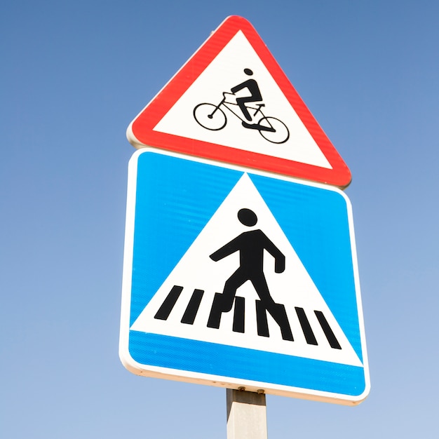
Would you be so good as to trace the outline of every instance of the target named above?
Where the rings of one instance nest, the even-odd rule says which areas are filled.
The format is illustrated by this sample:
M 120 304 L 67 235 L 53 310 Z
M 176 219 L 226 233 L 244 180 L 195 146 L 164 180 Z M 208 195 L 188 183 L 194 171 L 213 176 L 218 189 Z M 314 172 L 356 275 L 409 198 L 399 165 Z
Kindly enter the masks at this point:
M 195 107 L 201 103 L 219 104 L 223 98 L 223 92 L 231 93 L 231 88 L 249 79 L 249 76 L 244 73 L 244 69 L 252 70 L 251 78 L 257 81 L 264 103 L 263 115 L 282 121 L 288 128 L 289 138 L 285 142 L 270 142 L 262 137 L 259 130 L 244 128 L 242 121 L 245 118 L 236 105 L 236 101 L 234 101 L 235 104 L 229 104 L 227 107 L 223 104 L 220 107 L 227 118 L 224 128 L 209 130 L 197 123 L 194 117 Z M 245 93 L 248 95 L 248 90 L 238 91 L 236 96 L 228 95 L 228 99 L 233 101 Z M 250 102 L 247 105 L 254 107 L 255 104 L 257 102 Z M 233 109 L 235 113 L 230 109 Z M 262 114 L 259 113 L 251 123 L 257 123 L 261 116 Z M 205 68 L 196 81 L 157 123 L 154 130 L 332 169 L 281 88 L 241 31 L 236 33 L 210 65 Z

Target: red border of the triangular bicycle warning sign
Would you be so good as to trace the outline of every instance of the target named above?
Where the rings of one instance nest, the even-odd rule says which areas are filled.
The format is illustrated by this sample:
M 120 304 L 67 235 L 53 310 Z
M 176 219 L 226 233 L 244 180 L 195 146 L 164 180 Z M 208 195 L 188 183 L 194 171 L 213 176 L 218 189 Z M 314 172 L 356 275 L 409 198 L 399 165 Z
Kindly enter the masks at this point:
M 304 123 L 313 140 L 323 152 L 332 169 L 299 163 L 285 158 L 258 154 L 252 151 L 235 149 L 224 145 L 193 140 L 168 133 L 154 131 L 163 116 L 173 107 L 186 90 L 196 81 L 210 62 L 229 43 L 238 31 L 243 32 L 255 50 L 273 80 L 283 91 L 293 109 Z M 166 149 L 192 156 L 199 156 L 215 161 L 231 163 L 272 173 L 298 177 L 304 180 L 347 187 L 351 182 L 351 172 L 344 163 L 327 135 L 320 128 L 297 91 L 292 86 L 264 41 L 257 34 L 250 22 L 242 17 L 231 16 L 224 20 L 215 32 L 189 58 L 183 67 L 173 76 L 163 89 L 154 97 L 142 112 L 134 119 L 127 130 L 128 140 L 137 148 L 144 146 Z

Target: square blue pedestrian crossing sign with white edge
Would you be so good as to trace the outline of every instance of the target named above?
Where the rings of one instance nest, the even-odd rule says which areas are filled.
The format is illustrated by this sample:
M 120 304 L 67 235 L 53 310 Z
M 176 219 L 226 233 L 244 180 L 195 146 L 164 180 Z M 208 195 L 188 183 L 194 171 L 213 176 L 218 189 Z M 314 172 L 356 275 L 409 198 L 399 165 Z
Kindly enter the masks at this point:
M 128 370 L 344 404 L 367 396 L 342 191 L 149 148 L 128 175 Z

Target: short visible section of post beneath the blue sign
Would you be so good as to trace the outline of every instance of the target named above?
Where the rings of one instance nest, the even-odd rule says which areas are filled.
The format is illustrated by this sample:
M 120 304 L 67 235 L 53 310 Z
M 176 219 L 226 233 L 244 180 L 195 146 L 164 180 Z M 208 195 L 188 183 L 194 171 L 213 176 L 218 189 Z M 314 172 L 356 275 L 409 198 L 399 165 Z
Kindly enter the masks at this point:
M 227 389 L 227 439 L 267 439 L 265 394 Z

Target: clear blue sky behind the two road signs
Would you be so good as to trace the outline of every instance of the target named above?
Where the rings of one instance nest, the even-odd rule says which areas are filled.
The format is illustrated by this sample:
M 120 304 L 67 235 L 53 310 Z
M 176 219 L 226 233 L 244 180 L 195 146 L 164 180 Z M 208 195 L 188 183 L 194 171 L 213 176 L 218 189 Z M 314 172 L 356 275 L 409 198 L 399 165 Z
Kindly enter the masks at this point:
M 0 6 L 0 435 L 225 438 L 225 391 L 118 356 L 126 128 L 228 15 L 252 22 L 348 164 L 372 390 L 267 397 L 269 437 L 436 438 L 439 3 Z

